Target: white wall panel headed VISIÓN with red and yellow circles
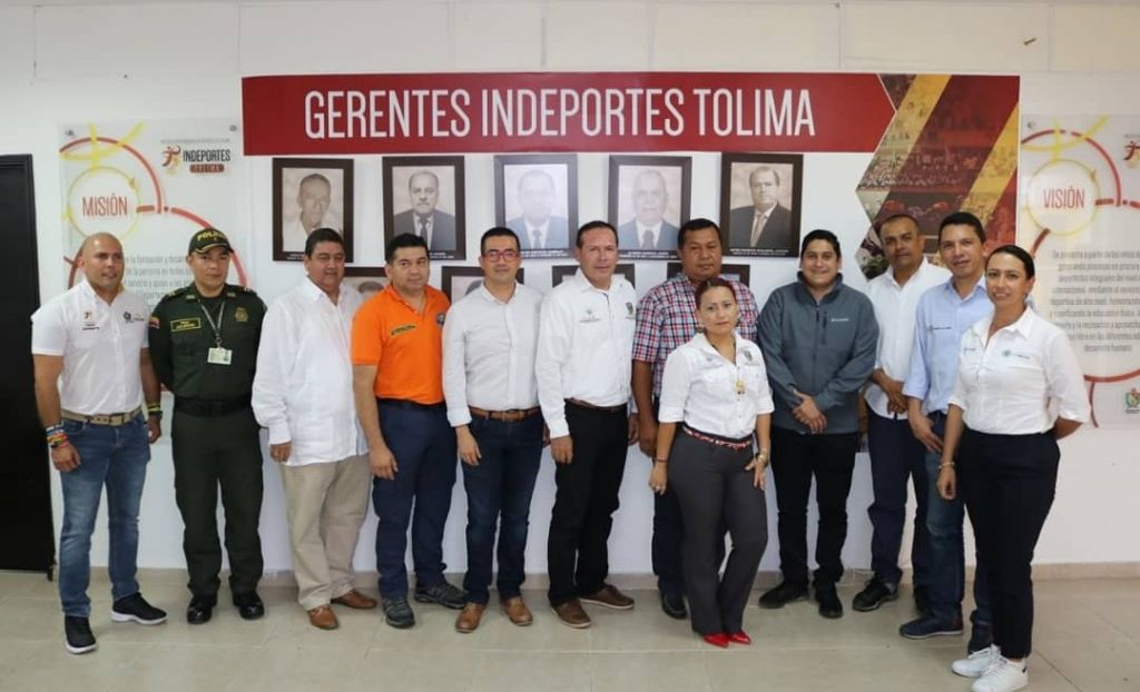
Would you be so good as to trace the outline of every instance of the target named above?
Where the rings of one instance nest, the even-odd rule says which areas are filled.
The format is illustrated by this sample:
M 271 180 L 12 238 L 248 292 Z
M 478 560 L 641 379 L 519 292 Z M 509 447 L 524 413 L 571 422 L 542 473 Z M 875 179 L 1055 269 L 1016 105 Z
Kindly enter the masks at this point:
M 1027 115 L 1018 244 L 1101 426 L 1140 425 L 1140 116 Z

